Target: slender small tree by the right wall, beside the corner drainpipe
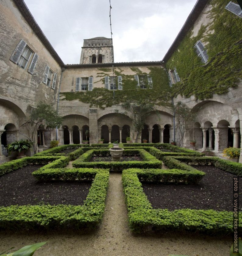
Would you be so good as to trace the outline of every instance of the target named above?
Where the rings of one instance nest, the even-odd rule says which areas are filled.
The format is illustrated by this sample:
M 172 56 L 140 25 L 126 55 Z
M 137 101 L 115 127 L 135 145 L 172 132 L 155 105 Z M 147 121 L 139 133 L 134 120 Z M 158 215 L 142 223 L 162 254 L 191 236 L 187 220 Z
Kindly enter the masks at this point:
M 179 146 L 181 147 L 183 144 L 183 138 L 186 131 L 186 122 L 194 120 L 196 117 L 196 113 L 192 111 L 186 104 L 182 103 L 181 101 L 177 102 L 174 106 L 175 110 L 175 117 L 177 120 L 176 127 L 179 128 L 180 131 L 180 141 Z

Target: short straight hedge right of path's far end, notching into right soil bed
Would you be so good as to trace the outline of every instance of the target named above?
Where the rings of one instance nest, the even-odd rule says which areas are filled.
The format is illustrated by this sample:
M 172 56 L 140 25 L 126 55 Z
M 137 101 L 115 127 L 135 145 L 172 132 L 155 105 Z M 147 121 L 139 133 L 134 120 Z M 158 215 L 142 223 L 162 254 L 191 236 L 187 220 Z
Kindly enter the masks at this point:
M 197 184 L 205 175 L 203 171 L 185 171 L 179 169 L 127 169 L 136 173 L 140 181 Z

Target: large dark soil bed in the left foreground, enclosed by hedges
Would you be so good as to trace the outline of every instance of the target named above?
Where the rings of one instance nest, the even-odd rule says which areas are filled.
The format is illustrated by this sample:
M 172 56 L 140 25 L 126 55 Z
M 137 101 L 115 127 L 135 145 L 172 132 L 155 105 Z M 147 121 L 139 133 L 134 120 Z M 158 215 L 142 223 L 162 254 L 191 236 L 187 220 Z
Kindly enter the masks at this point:
M 42 166 L 27 165 L 1 176 L 0 206 L 83 204 L 91 182 L 37 182 L 31 173 Z

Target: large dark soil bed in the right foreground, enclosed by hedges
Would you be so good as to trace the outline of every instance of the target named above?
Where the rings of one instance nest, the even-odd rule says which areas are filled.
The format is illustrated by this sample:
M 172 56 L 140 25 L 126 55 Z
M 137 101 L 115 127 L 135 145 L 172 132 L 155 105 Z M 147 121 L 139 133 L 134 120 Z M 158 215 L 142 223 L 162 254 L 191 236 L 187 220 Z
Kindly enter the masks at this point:
M 198 185 L 142 182 L 144 193 L 155 209 L 213 209 L 232 211 L 233 176 L 213 166 L 193 166 L 206 173 Z M 242 192 L 242 178 L 239 178 Z

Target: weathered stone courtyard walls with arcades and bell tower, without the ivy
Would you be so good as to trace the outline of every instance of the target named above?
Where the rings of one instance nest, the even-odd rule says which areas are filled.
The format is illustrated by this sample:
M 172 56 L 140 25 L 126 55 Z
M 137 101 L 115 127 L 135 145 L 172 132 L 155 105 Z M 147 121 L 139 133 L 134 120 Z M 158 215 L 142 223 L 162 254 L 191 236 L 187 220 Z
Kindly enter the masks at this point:
M 208 4 L 205 4 L 206 2 Z M 163 61 L 114 63 L 114 72 L 116 72 L 114 74 L 110 38 L 85 39 L 81 50 L 80 64 L 64 65 L 32 19 L 24 2 L 22 0 L 3 0 L 0 5 L 0 133 L 2 144 L 5 145 L 16 139 L 24 138 L 18 132 L 19 127 L 27 120 L 31 108 L 39 100 L 54 104 L 63 117 L 63 125 L 57 132 L 49 130 L 48 127 L 39 127 L 36 136 L 38 136 L 39 145 L 42 147 L 48 147 L 53 139 L 58 139 L 60 144 L 82 143 L 83 140 L 98 143 L 101 138 L 105 142 L 115 140 L 125 142 L 126 137 L 130 136 L 134 141 L 136 133 L 132 124 L 131 112 L 125 110 L 121 103 L 105 108 L 90 106 L 89 103 L 78 99 L 67 100 L 65 93 L 85 94 L 93 90 L 103 92 L 106 88 L 106 90 L 113 90 L 114 95 L 118 90 L 126 91 L 128 94 L 129 88 L 125 84 L 126 80 L 135 83 L 137 79 L 135 76 L 140 74 L 145 74 L 148 79 L 151 68 L 157 68 L 163 71 L 163 74 L 166 71 L 171 76 L 171 84 L 175 84 L 180 79 L 179 73 L 176 73 L 176 70 L 167 69 L 166 62 L 169 61 L 173 52 L 179 51 L 179 43 L 190 29 L 192 38 L 198 35 L 201 26 L 213 22 L 207 13 L 211 9 L 209 3 L 210 1 L 198 1 L 192 15 L 189 16 L 190 18 Z M 238 19 L 240 18 L 238 17 Z M 208 30 L 206 33 L 214 33 L 214 31 Z M 31 52 L 27 66 L 24 68 L 21 67 L 19 59 L 16 62 L 11 60 L 21 40 L 26 43 L 24 49 L 27 47 Z M 202 42 L 204 46 L 208 43 L 204 38 Z M 35 53 L 38 59 L 32 72 L 29 68 Z M 50 71 L 52 73 L 49 73 Z M 48 79 L 44 79 L 46 72 L 47 75 L 52 74 L 49 85 L 47 85 Z M 55 74 L 55 86 L 52 88 Z M 116 88 L 114 88 L 112 77 L 122 78 L 122 76 L 125 79 L 121 80 L 119 84 L 116 80 Z M 106 77 L 108 77 L 107 81 Z M 152 76 L 149 79 L 154 80 Z M 148 92 L 152 93 L 151 80 L 147 80 L 149 86 L 143 88 L 146 90 L 145 92 L 150 90 Z M 121 87 L 119 88 L 119 86 Z M 139 89 L 141 88 L 140 86 Z M 59 102 L 58 95 L 60 96 Z M 173 100 L 175 104 L 182 101 L 197 113 L 193 121 L 186 123 L 183 146 L 189 147 L 190 140 L 196 139 L 196 148 L 201 150 L 209 147 L 215 152 L 221 152 L 227 146 L 241 147 L 241 80 L 238 80 L 236 87 L 229 88 L 228 92 L 214 94 L 209 99 L 198 100 L 194 96 L 185 98 L 178 95 Z M 172 101 L 168 100 L 167 103 L 171 104 Z M 148 139 L 149 142 L 169 143 L 174 140 L 175 130 L 175 140 L 178 143 L 180 134 L 173 124 L 172 109 L 165 105 L 160 106 L 160 104 L 156 106 L 156 109 L 156 112 L 150 113 L 146 118 L 144 129 L 138 136 L 138 142 Z M 120 115 L 120 113 L 123 114 Z M 0 158 L 4 159 L 1 152 Z M 240 162 L 242 162 L 242 156 Z

